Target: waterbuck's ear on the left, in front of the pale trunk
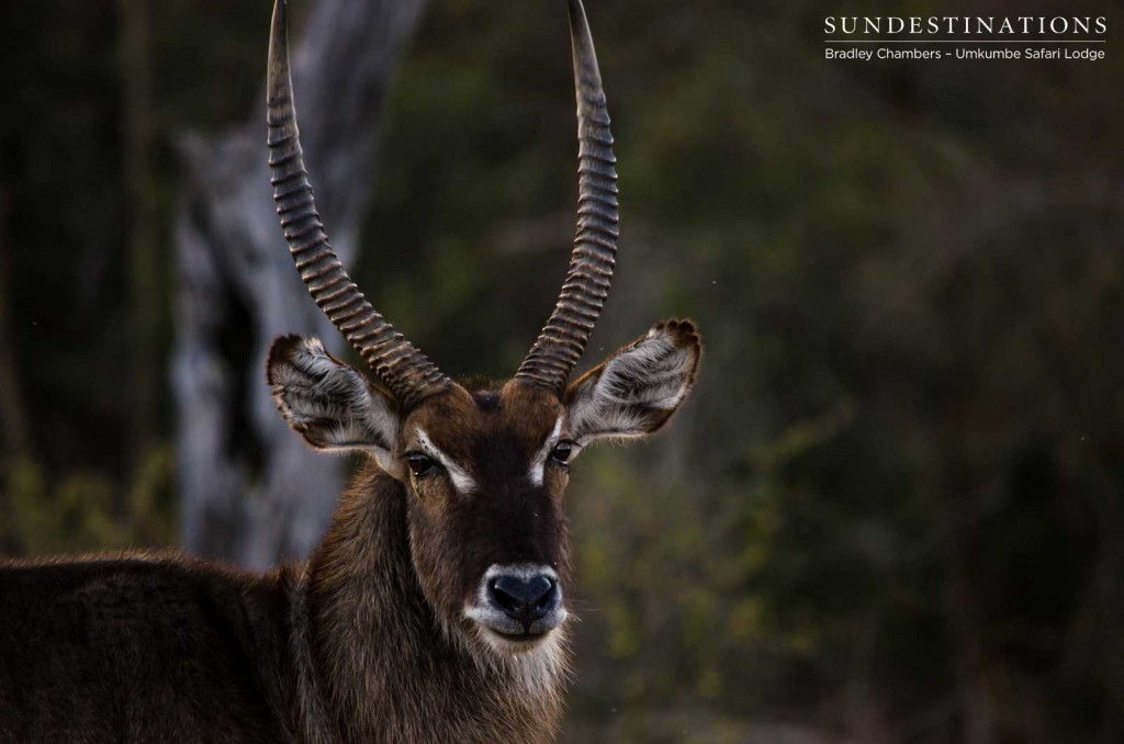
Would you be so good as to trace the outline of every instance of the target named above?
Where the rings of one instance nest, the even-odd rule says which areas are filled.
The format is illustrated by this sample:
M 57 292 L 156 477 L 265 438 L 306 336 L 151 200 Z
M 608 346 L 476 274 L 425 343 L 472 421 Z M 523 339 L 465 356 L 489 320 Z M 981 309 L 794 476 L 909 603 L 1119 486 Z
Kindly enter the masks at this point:
M 278 409 L 294 432 L 321 452 L 363 451 L 390 470 L 398 433 L 391 400 L 319 338 L 282 336 L 266 363 Z

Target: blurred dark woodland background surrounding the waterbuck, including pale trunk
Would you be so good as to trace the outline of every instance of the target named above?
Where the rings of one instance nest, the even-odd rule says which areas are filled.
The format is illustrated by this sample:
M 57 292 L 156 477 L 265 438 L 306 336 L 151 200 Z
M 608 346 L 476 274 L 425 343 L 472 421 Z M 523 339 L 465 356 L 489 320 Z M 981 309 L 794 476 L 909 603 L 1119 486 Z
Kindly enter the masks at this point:
M 319 333 L 269 198 L 269 0 L 16 0 L 0 64 L 0 553 L 299 559 L 353 463 L 262 355 Z M 423 7 L 423 4 L 425 7 Z M 587 363 L 707 339 L 574 466 L 566 742 L 1124 741 L 1124 54 L 827 62 L 839 15 L 588 0 L 622 179 Z M 560 0 L 307 0 L 328 232 L 448 373 L 510 374 L 572 237 Z M 283 477 L 279 475 L 283 473 Z

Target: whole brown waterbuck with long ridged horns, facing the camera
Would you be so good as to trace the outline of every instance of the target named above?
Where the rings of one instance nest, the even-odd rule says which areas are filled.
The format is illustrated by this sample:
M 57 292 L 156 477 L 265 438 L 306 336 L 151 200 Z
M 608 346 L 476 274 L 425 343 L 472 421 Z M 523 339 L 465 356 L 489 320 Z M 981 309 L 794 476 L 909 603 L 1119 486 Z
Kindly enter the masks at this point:
M 568 0 L 580 196 L 570 272 L 515 378 L 462 385 L 359 292 L 302 163 L 285 2 L 273 13 L 269 151 L 289 248 L 373 378 L 315 338 L 274 343 L 282 416 L 366 464 L 306 565 L 251 574 L 126 555 L 0 566 L 0 742 L 547 742 L 566 670 L 562 492 L 602 437 L 643 436 L 698 369 L 689 321 L 569 382 L 600 314 L 616 174 L 580 0 Z

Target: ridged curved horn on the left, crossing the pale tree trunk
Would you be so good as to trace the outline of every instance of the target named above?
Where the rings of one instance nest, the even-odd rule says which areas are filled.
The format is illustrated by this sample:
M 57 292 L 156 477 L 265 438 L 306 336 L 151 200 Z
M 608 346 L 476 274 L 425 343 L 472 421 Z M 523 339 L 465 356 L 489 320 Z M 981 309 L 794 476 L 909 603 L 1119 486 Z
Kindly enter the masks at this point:
M 401 406 L 410 408 L 445 390 L 450 379 L 371 307 L 328 243 L 297 129 L 285 0 L 277 0 L 273 6 L 266 106 L 273 201 L 308 292 Z

